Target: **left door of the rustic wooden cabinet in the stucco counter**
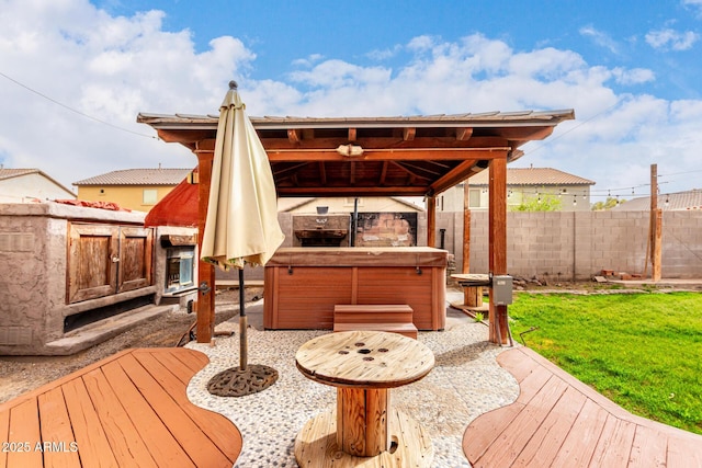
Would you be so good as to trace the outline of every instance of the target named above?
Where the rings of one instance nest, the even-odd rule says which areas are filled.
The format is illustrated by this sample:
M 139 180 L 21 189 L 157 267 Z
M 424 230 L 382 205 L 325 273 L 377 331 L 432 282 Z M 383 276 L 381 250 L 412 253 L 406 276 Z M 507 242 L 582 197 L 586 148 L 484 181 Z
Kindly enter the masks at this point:
M 120 228 L 71 224 L 68 229 L 68 303 L 114 294 Z

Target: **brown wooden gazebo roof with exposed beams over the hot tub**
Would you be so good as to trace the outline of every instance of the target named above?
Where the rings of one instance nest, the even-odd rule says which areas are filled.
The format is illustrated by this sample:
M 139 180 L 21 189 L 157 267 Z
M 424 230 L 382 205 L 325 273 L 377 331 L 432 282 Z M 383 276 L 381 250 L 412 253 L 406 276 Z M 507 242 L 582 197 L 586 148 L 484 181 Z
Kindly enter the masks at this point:
M 250 117 L 281 197 L 427 196 L 513 161 L 573 110 L 411 117 Z M 217 115 L 140 113 L 160 139 L 214 151 Z

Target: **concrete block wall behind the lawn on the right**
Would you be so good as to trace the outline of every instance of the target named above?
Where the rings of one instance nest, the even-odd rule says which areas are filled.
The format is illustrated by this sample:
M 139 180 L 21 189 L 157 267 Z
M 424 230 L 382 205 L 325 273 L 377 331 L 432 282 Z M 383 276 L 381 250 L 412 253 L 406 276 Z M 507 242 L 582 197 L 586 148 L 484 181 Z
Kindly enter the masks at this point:
M 471 214 L 472 273 L 489 271 L 488 226 L 488 213 Z M 508 272 L 550 281 L 590 279 L 602 270 L 641 274 L 648 226 L 648 212 L 510 212 Z M 438 214 L 437 229 L 446 229 L 444 247 L 455 254 L 461 271 L 463 214 Z M 664 213 L 661 270 L 665 278 L 702 277 L 702 212 Z

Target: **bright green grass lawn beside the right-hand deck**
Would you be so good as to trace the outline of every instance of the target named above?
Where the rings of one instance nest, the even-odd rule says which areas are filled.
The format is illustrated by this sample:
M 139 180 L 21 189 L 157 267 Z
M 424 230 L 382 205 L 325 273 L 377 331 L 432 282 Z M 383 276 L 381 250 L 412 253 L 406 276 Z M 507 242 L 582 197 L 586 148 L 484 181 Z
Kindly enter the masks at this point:
M 517 294 L 509 313 L 518 341 L 610 400 L 702 434 L 702 294 Z

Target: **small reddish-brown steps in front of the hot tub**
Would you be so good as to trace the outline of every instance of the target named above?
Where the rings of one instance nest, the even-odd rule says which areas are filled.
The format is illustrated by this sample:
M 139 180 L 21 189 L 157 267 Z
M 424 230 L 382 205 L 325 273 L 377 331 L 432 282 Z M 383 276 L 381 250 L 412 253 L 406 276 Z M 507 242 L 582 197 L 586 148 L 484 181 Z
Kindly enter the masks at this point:
M 407 305 L 335 305 L 333 331 L 387 331 L 417 339 L 414 310 Z

